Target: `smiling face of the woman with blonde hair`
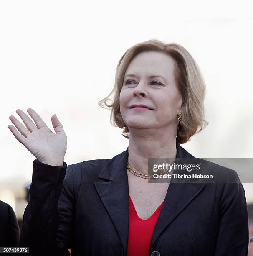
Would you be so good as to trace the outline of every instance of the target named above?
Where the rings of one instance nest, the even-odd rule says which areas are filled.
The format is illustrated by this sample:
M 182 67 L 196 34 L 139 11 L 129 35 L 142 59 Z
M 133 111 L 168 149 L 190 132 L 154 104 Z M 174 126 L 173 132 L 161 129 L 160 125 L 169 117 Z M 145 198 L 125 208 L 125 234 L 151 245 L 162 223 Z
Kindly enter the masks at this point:
M 172 57 L 160 52 L 142 52 L 130 62 L 119 98 L 129 131 L 164 128 L 176 133 L 182 95 L 175 81 L 174 64 Z M 149 108 L 132 108 L 139 104 Z

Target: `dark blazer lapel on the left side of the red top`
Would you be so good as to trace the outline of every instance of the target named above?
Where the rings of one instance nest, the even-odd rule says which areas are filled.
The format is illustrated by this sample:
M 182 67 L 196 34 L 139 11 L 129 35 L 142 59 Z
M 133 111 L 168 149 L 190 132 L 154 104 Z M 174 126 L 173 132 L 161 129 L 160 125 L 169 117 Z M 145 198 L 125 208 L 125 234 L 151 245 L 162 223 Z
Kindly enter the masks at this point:
M 114 156 L 103 167 L 99 178 L 104 181 L 96 181 L 94 185 L 104 204 L 114 227 L 121 240 L 126 255 L 128 242 L 128 177 L 126 162 L 128 148 L 121 154 Z

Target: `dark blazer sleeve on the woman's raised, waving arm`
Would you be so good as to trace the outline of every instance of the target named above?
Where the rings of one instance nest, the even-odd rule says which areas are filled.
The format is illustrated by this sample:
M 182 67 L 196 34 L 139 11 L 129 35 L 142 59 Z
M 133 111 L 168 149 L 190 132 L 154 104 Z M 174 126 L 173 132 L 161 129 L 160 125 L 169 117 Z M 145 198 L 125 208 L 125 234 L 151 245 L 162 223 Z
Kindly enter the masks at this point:
M 73 228 L 74 202 L 70 195 L 73 187 L 72 173 L 71 165 L 67 166 L 66 162 L 61 167 L 44 164 L 37 159 L 33 161 L 30 201 L 25 208 L 19 241 L 20 247 L 29 247 L 29 255 L 70 255 L 67 247 L 71 246 Z M 60 196 L 63 202 L 61 217 L 58 208 Z M 62 241 L 57 241 L 60 218 L 64 233 L 61 232 Z

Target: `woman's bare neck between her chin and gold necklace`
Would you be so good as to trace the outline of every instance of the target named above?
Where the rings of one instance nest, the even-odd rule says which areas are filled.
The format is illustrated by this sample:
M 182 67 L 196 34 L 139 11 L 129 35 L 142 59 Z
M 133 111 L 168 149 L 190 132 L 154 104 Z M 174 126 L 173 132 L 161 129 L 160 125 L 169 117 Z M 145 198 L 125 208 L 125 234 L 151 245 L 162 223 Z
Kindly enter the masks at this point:
M 175 158 L 174 133 L 129 130 L 128 163 L 136 171 L 148 174 L 149 158 Z

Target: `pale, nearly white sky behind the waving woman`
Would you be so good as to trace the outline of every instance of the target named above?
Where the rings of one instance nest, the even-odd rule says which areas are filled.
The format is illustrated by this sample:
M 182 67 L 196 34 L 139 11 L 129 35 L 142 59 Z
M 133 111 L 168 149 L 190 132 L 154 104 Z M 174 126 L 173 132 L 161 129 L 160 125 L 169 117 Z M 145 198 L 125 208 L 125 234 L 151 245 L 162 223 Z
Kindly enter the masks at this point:
M 13 205 L 8 190 L 20 195 L 32 177 L 35 157 L 8 128 L 10 115 L 21 120 L 18 108 L 33 108 L 51 129 L 58 116 L 67 164 L 126 150 L 98 101 L 124 52 L 149 39 L 184 46 L 206 82 L 209 125 L 181 146 L 200 158 L 252 158 L 252 10 L 250 1 L 228 0 L 1 1 L 0 200 Z M 253 184 L 243 185 L 253 202 Z

